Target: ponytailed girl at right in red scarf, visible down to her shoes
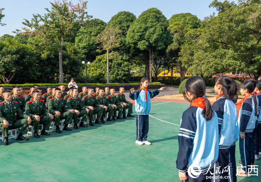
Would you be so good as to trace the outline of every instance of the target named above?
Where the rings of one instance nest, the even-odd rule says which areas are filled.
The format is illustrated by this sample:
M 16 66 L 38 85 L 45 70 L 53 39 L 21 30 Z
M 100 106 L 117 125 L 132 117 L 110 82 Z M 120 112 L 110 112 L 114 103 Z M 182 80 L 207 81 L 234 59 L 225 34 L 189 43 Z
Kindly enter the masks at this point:
M 257 100 L 254 93 L 254 85 L 251 81 L 244 81 L 240 84 L 240 93 L 245 96 L 236 104 L 239 125 L 239 152 L 242 168 L 237 170 L 238 176 L 251 177 L 248 169 L 251 165 L 251 143 L 253 130 L 256 125 Z

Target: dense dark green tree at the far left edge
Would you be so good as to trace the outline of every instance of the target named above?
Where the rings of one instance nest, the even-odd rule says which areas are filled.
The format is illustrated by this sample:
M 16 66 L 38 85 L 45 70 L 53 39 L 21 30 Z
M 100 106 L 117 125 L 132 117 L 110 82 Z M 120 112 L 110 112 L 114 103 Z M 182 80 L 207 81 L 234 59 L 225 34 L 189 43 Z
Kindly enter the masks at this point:
M 0 72 L 3 82 L 9 84 L 19 71 L 28 72 L 34 55 L 32 46 L 20 44 L 12 38 L 0 41 Z

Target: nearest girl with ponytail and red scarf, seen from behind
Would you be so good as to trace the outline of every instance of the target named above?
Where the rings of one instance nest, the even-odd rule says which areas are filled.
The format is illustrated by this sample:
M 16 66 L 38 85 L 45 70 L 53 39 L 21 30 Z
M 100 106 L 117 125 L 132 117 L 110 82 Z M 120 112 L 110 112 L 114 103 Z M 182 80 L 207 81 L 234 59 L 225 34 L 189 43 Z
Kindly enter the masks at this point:
M 205 96 L 205 88 L 204 80 L 193 76 L 186 81 L 183 89 L 183 96 L 191 105 L 182 115 L 178 133 L 176 166 L 182 181 L 195 181 L 188 175 L 192 170 L 200 173 L 196 181 L 213 177 L 213 173 L 215 177 L 215 161 L 219 155 L 218 116 Z

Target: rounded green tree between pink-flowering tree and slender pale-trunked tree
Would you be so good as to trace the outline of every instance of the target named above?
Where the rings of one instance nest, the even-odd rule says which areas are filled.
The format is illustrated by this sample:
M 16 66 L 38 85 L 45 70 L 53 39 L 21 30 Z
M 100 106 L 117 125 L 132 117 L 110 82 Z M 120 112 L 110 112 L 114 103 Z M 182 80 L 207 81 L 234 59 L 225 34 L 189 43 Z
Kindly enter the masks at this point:
M 97 43 L 98 35 L 103 32 L 106 23 L 100 19 L 92 19 L 89 24 L 81 28 L 76 35 L 75 45 L 83 51 L 86 60 L 92 62 L 103 51 L 101 43 Z

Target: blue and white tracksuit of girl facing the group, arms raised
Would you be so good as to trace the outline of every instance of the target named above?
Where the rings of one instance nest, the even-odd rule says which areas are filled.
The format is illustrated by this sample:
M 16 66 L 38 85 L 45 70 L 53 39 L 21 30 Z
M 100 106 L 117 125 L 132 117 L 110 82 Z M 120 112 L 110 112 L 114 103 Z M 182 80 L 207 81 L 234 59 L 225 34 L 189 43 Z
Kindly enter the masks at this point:
M 137 89 L 135 92 L 130 92 L 129 97 L 132 100 L 136 100 L 135 110 L 137 113 L 136 127 L 138 141 L 146 141 L 149 131 L 149 112 L 151 110 L 151 99 L 160 93 L 160 89 L 153 92 L 147 90 L 147 99 L 145 90 Z

